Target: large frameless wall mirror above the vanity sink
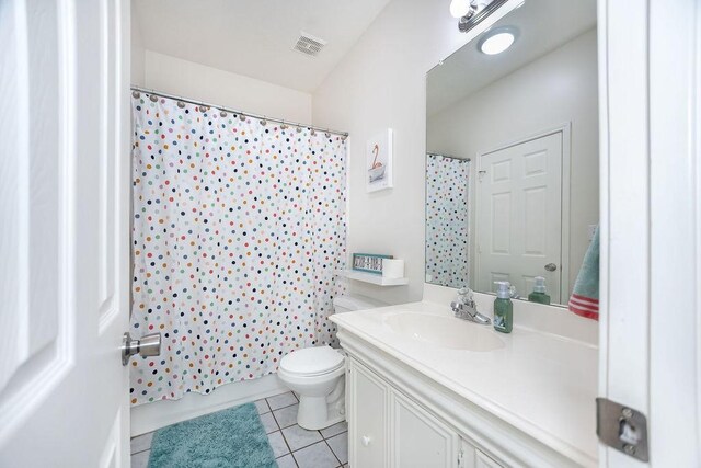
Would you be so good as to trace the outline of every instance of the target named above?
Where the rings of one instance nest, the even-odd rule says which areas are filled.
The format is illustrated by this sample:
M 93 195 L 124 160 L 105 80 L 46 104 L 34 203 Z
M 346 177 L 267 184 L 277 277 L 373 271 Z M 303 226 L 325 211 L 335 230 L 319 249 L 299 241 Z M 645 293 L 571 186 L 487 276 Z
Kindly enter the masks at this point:
M 427 283 L 526 298 L 542 276 L 567 304 L 599 222 L 597 77 L 596 0 L 526 0 L 428 72 Z

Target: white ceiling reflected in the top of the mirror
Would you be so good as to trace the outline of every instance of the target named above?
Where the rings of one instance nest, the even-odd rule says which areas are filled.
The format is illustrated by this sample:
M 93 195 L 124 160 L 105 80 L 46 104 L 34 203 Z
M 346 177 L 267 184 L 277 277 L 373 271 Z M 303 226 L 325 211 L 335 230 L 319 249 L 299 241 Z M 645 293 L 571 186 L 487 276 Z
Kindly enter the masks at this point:
M 589 31 L 596 25 L 596 0 L 526 0 L 494 27 L 506 25 L 519 31 L 517 41 L 506 52 L 482 54 L 478 50 L 479 38 L 475 38 L 428 72 L 428 115 Z

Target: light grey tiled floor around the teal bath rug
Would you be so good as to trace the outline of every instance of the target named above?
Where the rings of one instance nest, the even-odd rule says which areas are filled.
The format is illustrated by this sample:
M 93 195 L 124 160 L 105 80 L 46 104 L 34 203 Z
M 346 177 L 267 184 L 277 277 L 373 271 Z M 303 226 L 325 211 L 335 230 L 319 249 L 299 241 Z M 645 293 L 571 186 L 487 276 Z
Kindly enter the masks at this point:
M 299 402 L 291 391 L 258 400 L 255 407 L 280 468 L 347 468 L 348 425 L 334 424 L 321 431 L 297 425 Z M 131 440 L 131 468 L 146 468 L 153 433 Z

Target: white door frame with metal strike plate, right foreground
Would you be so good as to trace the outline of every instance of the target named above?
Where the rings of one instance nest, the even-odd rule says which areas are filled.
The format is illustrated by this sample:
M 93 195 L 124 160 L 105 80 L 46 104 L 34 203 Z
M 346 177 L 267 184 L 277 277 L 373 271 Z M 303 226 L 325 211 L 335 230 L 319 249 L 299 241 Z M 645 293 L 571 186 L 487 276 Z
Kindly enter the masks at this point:
M 650 442 L 648 463 L 599 444 L 599 466 L 699 466 L 701 4 L 599 0 L 598 47 L 598 393 Z

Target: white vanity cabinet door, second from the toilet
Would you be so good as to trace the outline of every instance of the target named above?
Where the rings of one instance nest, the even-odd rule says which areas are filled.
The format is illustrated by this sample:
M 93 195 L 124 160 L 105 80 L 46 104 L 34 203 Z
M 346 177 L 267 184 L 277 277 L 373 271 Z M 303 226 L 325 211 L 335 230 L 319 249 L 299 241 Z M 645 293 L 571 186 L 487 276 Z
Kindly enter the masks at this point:
M 392 453 L 398 468 L 458 466 L 458 434 L 399 392 L 392 395 Z

